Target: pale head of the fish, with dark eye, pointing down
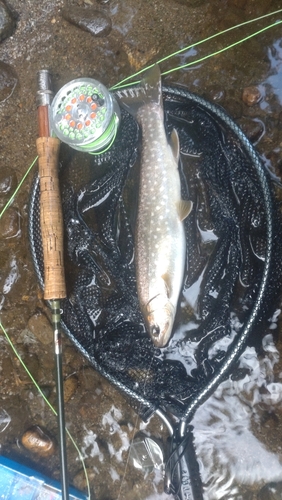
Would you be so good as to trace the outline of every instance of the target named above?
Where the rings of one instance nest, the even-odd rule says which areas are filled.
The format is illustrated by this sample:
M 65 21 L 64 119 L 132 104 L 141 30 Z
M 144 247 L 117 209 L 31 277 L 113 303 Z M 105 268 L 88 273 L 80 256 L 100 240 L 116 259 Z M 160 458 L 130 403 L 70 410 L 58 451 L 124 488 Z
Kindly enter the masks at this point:
M 147 304 L 146 323 L 156 347 L 165 347 L 173 327 L 175 309 L 167 296 L 157 295 Z

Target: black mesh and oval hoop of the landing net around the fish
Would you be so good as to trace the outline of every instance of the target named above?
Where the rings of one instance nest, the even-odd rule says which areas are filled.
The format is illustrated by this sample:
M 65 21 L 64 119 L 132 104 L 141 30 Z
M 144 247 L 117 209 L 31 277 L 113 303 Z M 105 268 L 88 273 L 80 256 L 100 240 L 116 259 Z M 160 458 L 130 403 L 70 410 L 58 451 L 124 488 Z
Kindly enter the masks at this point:
M 163 87 L 163 98 L 168 135 L 176 128 L 180 139 L 183 198 L 194 202 L 185 220 L 187 264 L 173 337 L 155 348 L 138 305 L 140 132 L 125 110 L 109 151 L 91 157 L 84 171 L 72 161 L 61 168 L 69 270 L 63 325 L 144 419 L 157 408 L 188 419 L 238 366 L 246 342 L 261 349 L 281 290 L 282 222 L 269 173 L 229 116 L 181 88 Z M 42 285 L 38 178 L 29 233 Z

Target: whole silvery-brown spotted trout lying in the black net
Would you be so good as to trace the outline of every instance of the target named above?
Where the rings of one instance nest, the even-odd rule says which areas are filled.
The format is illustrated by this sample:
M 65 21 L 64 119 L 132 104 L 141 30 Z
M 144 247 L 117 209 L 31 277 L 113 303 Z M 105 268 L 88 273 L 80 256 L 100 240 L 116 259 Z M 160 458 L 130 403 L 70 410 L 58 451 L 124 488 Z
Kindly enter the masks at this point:
M 186 262 L 184 219 L 193 203 L 181 198 L 177 131 L 167 139 L 161 73 L 147 71 L 140 86 L 117 97 L 142 132 L 135 229 L 137 294 L 146 329 L 156 347 L 171 337 Z

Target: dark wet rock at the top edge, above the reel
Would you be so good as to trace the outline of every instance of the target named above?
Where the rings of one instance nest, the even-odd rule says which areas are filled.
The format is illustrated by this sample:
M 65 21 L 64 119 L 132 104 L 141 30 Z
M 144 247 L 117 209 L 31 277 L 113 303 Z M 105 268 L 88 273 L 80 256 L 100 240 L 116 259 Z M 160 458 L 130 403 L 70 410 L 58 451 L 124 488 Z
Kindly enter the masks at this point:
M 66 21 L 89 31 L 94 36 L 107 36 L 112 29 L 111 19 L 92 7 L 70 7 L 63 9 L 62 15 Z

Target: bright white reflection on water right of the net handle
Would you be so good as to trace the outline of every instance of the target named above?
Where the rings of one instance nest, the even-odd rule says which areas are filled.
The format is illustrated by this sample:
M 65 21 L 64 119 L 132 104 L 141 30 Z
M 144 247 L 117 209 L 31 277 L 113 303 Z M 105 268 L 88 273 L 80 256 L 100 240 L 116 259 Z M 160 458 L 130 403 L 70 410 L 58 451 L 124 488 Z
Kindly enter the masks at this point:
M 281 481 L 281 456 L 269 451 L 254 432 L 262 425 L 261 405 L 270 412 L 281 401 L 282 384 L 272 382 L 279 353 L 271 334 L 264 337 L 263 349 L 261 358 L 253 347 L 246 348 L 239 367 L 248 373 L 221 384 L 192 422 L 209 500 L 245 498 L 244 487 Z

